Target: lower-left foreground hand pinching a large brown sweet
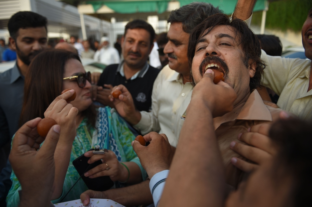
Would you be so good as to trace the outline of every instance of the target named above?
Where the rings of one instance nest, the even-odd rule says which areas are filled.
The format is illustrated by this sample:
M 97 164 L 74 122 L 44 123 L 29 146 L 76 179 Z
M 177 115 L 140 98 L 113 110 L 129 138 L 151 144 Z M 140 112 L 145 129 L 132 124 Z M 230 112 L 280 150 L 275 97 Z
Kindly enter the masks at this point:
M 49 130 L 45 142 L 37 133 L 41 118 L 26 122 L 17 130 L 12 141 L 9 161 L 22 186 L 21 206 L 31 206 L 36 200 L 39 206 L 49 206 L 54 188 L 54 152 L 60 136 L 60 126 Z

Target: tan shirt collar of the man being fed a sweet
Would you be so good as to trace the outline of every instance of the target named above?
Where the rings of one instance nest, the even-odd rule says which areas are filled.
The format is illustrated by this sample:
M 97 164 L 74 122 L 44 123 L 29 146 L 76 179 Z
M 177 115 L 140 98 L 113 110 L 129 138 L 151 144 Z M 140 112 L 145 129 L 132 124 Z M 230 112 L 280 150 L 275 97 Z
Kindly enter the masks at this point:
M 234 120 L 272 121 L 273 118 L 258 91 L 254 89 L 245 103 L 236 106 L 222 117 L 214 118 L 214 127 L 217 129 L 220 125 Z

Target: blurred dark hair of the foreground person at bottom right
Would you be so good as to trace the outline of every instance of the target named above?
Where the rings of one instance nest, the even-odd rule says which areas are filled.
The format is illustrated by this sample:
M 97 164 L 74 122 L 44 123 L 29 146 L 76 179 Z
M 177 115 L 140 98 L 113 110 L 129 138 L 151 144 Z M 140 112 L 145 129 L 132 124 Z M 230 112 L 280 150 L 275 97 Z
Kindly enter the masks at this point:
M 279 120 L 270 129 L 269 136 L 278 149 L 273 169 L 273 180 L 284 182 L 291 176 L 290 206 L 310 206 L 312 194 L 312 121 L 298 118 Z M 279 169 L 282 169 L 280 171 Z M 278 172 L 284 172 L 279 174 Z

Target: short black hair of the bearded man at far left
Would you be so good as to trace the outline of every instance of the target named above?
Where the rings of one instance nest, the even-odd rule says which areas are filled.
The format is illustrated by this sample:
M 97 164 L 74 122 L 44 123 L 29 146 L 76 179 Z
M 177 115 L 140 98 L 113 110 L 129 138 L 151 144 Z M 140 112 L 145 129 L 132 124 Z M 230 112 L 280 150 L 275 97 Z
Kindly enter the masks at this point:
M 44 27 L 46 28 L 46 25 L 48 23 L 48 20 L 46 17 L 41 16 L 40 14 L 37 14 L 35 12 L 17 12 L 11 16 L 7 23 L 7 29 L 9 30 L 10 36 L 16 40 L 18 36 L 18 30 L 20 28 L 36 28 L 36 27 Z M 47 29 L 46 29 L 47 31 Z

